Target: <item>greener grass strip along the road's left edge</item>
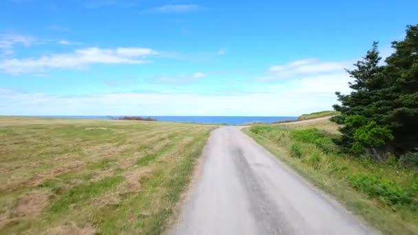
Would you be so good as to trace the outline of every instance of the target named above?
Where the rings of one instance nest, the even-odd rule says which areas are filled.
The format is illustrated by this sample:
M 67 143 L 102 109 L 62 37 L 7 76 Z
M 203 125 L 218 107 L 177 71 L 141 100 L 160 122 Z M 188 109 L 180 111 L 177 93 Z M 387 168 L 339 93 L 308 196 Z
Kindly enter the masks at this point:
M 195 138 L 177 146 L 168 161 L 157 166 L 152 177 L 140 181 L 142 190 L 129 195 L 118 208 L 102 208 L 95 218 L 100 234 L 135 231 L 137 234 L 161 234 L 166 220 L 190 181 L 196 159 L 201 155 L 210 131 L 195 134 Z M 157 197 L 155 197 L 157 195 Z M 134 219 L 132 219 L 134 218 Z

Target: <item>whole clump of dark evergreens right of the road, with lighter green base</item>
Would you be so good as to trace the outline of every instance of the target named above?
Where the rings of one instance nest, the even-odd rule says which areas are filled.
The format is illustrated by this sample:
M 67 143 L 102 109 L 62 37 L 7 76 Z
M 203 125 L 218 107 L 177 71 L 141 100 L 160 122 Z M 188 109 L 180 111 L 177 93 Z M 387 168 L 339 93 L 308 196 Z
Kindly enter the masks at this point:
M 347 70 L 353 82 L 349 95 L 336 92 L 341 104 L 333 108 L 343 124 L 336 143 L 343 150 L 369 153 L 384 159 L 417 151 L 418 147 L 418 25 L 409 25 L 403 41 L 394 41 L 395 52 L 380 65 L 377 43 L 355 69 Z M 373 141 L 372 141 L 373 140 Z

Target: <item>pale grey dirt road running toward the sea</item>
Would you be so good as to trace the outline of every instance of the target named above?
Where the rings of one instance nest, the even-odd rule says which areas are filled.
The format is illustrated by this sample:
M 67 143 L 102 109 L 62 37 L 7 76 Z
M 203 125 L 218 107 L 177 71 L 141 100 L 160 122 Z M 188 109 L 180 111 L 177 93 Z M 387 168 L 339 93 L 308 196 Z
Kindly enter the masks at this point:
M 195 186 L 168 234 L 374 234 L 241 132 L 212 132 Z

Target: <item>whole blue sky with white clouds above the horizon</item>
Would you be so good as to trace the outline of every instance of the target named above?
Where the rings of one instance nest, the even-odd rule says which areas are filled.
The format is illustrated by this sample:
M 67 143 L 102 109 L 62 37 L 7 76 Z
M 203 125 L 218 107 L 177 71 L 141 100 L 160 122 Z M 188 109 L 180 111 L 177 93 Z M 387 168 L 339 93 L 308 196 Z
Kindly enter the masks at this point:
M 418 1 L 4 0 L 0 115 L 300 115 Z

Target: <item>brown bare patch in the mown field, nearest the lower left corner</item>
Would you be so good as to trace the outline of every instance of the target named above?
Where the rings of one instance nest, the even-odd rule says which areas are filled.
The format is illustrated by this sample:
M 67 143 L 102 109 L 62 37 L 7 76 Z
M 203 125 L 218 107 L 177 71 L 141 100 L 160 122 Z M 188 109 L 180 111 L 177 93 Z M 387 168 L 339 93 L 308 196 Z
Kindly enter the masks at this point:
M 34 216 L 39 214 L 47 205 L 47 192 L 33 191 L 18 199 L 10 214 L 13 217 Z

